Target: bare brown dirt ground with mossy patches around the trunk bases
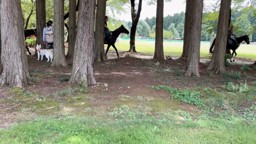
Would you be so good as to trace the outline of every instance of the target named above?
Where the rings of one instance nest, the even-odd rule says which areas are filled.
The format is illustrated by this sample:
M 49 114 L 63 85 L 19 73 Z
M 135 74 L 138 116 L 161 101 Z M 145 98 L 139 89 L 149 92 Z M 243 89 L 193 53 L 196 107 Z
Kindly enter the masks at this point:
M 137 99 L 127 99 L 120 95 L 131 97 L 142 96 L 154 98 L 153 102 L 142 101 L 151 106 L 152 114 L 161 110 L 186 110 L 198 112 L 197 107 L 180 104 L 178 100 L 168 99 L 170 93 L 163 90 L 156 91 L 151 86 L 165 85 L 172 88 L 185 89 L 194 87 L 220 87 L 225 77 L 220 73 L 206 71 L 207 64 L 200 63 L 200 77 L 186 77 L 186 61 L 181 59 L 158 61 L 127 56 L 127 52 L 119 52 L 121 58 L 109 59 L 108 62 L 94 64 L 95 86 L 88 88 L 88 93 L 73 93 L 61 95 L 63 90 L 71 91 L 80 87 L 70 86 L 68 78 L 72 71 L 72 59 L 67 59 L 67 67 L 51 67 L 50 62 L 37 61 L 37 56 L 28 55 L 29 71 L 34 84 L 23 90 L 12 89 L 8 86 L 0 87 L 0 128 L 8 128 L 11 124 L 24 119 L 32 119 L 38 115 L 75 114 L 100 115 L 109 108 L 122 105 L 135 106 L 141 103 Z M 145 55 L 138 53 L 139 55 Z M 126 56 L 125 56 L 126 55 Z M 148 56 L 148 55 L 145 55 Z M 109 51 L 108 57 L 117 57 L 115 51 Z M 246 75 L 248 85 L 256 80 L 256 69 L 241 70 L 241 65 L 226 67 L 227 72 L 241 72 Z M 210 75 L 214 75 L 214 77 Z M 233 79 L 234 83 L 242 80 Z M 26 92 L 29 96 L 26 97 Z M 82 97 L 80 99 L 80 97 Z

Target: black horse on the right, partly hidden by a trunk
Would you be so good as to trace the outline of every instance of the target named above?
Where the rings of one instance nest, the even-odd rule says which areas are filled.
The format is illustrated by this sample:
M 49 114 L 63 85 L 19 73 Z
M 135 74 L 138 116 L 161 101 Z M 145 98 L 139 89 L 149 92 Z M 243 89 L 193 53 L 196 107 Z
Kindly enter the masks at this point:
M 249 36 L 249 35 L 246 35 L 246 34 L 245 34 L 244 36 L 237 37 L 237 38 L 236 38 L 236 41 L 237 41 L 237 44 L 238 44 L 238 45 L 236 45 L 235 43 L 232 44 L 232 45 L 230 45 L 229 42 L 228 42 L 229 39 L 227 40 L 226 49 L 233 51 L 233 52 L 232 52 L 232 56 L 231 56 L 231 58 L 230 58 L 230 62 L 232 62 L 231 59 L 232 59 L 234 53 L 235 53 L 235 56 L 234 56 L 233 62 L 235 61 L 235 59 L 236 59 L 236 49 L 238 49 L 238 47 L 240 46 L 240 44 L 241 44 L 243 41 L 245 41 L 247 45 L 250 44 L 250 41 L 249 41 L 249 37 L 248 37 L 248 36 Z M 210 47 L 210 53 L 213 52 L 213 49 L 212 49 L 212 48 L 213 48 L 213 46 L 214 46 L 214 43 L 215 43 L 215 39 L 213 40 L 213 43 L 212 43 L 212 45 L 211 45 L 211 47 Z

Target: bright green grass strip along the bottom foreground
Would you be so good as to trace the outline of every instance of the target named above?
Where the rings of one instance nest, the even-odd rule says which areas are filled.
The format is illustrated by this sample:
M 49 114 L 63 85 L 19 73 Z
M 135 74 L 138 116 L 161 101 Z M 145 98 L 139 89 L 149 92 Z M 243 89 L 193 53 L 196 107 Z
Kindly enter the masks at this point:
M 160 119 L 142 114 L 140 118 L 126 120 L 124 115 L 124 119 L 116 120 L 71 116 L 36 119 L 0 130 L 0 143 L 256 143 L 255 125 L 241 119 L 177 122 L 170 114 Z

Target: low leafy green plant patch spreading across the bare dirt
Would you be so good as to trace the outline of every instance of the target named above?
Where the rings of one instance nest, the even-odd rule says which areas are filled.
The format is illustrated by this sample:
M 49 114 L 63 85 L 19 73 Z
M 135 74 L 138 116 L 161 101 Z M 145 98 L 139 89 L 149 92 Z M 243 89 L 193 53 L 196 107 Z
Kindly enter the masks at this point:
M 179 99 L 179 101 L 184 101 L 188 104 L 194 104 L 197 107 L 203 107 L 205 106 L 203 104 L 203 101 L 200 99 L 200 97 L 203 96 L 200 92 L 189 92 L 187 90 L 177 90 L 166 86 L 152 86 L 152 88 L 156 88 L 159 90 L 160 88 L 164 89 L 165 91 L 172 93 L 171 98 L 172 99 Z

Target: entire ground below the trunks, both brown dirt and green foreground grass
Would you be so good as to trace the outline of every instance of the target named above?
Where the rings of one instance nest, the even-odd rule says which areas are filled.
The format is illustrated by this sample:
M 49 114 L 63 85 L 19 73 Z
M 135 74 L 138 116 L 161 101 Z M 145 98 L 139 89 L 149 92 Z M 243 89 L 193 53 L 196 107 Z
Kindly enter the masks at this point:
M 256 143 L 255 67 L 189 77 L 179 59 L 121 57 L 85 87 L 70 65 L 28 60 L 33 86 L 0 87 L 0 144 Z

